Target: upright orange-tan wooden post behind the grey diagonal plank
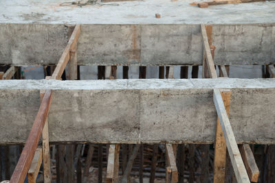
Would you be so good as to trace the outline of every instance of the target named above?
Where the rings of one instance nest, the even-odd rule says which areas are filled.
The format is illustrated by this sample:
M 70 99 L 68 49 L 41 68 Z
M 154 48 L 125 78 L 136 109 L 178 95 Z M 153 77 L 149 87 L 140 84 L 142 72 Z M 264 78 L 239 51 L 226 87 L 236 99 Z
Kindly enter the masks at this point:
M 225 106 L 225 110 L 229 115 L 231 91 L 221 91 L 221 97 Z M 214 146 L 214 178 L 213 182 L 224 182 L 225 180 L 225 161 L 226 161 L 226 144 L 221 129 L 219 118 L 217 119 L 216 140 Z

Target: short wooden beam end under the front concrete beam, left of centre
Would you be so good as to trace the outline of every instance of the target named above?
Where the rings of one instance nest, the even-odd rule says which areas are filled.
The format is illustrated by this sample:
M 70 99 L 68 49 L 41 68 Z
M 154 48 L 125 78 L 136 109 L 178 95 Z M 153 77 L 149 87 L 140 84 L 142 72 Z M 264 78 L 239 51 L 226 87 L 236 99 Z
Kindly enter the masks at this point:
M 106 182 L 118 182 L 118 171 L 120 169 L 119 156 L 120 145 L 110 145 Z

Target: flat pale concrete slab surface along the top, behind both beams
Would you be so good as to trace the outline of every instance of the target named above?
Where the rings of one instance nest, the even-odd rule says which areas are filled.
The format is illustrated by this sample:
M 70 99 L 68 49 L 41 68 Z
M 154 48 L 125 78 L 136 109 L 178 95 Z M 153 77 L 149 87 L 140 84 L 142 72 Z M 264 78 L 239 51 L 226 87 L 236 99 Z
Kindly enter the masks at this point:
M 195 1 L 195 0 L 193 0 Z M 198 8 L 191 0 L 144 0 L 61 6 L 64 0 L 2 0 L 1 23 L 46 24 L 246 24 L 274 23 L 275 2 Z M 155 14 L 161 15 L 160 19 Z

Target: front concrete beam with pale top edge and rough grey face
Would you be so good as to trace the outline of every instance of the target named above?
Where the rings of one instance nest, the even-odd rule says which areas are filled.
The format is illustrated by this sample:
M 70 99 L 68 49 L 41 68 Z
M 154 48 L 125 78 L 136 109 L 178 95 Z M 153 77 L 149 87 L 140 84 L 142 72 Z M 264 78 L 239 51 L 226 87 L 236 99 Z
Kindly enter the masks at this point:
M 23 143 L 52 89 L 51 142 L 213 143 L 213 88 L 230 88 L 230 123 L 241 143 L 274 143 L 274 79 L 7 80 L 0 82 L 0 143 Z

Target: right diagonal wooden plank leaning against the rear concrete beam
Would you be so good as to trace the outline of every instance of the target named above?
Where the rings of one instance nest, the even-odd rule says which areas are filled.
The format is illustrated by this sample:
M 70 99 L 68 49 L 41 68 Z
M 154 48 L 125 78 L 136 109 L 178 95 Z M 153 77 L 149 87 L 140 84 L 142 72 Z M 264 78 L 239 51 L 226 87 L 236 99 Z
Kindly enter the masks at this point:
M 206 26 L 201 24 L 201 35 L 203 38 L 203 50 L 206 55 L 206 65 L 208 67 L 208 73 L 211 78 L 217 78 L 216 69 L 214 68 L 214 60 L 210 51 L 210 45 L 208 43 L 208 36 L 206 32 Z M 203 54 L 204 55 L 204 54 Z

